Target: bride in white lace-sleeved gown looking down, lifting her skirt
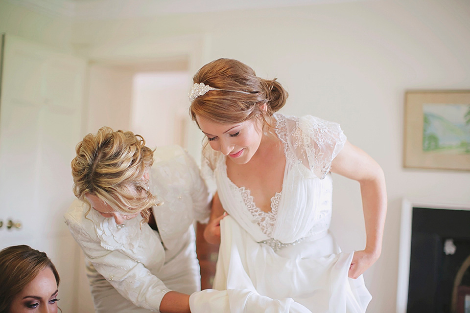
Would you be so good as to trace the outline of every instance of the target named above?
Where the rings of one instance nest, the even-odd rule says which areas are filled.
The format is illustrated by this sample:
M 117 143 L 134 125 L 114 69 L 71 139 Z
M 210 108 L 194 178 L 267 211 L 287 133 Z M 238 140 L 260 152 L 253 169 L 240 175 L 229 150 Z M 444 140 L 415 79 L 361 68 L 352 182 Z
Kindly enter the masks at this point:
M 214 197 L 206 231 L 210 242 L 221 233 L 221 292 L 191 295 L 191 311 L 365 312 L 361 274 L 380 255 L 386 212 L 380 166 L 338 124 L 278 113 L 287 92 L 239 61 L 215 60 L 193 80 L 190 113 L 207 136 L 203 167 L 221 202 Z M 341 252 L 329 232 L 330 172 L 360 183 L 362 251 Z

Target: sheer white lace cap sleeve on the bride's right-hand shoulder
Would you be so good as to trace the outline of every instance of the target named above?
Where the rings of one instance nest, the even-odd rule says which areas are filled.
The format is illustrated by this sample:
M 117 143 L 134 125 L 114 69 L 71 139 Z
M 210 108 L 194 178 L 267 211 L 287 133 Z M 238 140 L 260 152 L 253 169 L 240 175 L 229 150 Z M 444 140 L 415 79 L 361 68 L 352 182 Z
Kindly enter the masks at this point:
M 296 154 L 305 166 L 323 179 L 329 173 L 331 162 L 343 149 L 346 135 L 338 123 L 305 115 L 297 120 L 293 140 Z

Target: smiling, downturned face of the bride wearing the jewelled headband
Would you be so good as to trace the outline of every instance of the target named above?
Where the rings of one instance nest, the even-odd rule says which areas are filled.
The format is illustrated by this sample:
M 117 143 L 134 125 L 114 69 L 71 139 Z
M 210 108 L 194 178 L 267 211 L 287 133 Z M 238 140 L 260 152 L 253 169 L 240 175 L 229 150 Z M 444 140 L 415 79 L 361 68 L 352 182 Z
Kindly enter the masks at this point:
M 228 156 L 236 164 L 248 163 L 258 151 L 263 136 L 262 119 L 222 124 L 196 116 L 196 121 L 211 148 Z

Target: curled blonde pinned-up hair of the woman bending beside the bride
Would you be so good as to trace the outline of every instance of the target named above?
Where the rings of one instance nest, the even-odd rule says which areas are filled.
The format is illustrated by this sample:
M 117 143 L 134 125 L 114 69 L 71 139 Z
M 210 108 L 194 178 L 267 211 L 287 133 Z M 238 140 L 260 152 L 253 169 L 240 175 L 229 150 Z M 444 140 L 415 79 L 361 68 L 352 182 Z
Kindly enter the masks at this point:
M 160 203 L 143 179 L 146 168 L 153 164 L 153 151 L 141 135 L 102 127 L 96 134 L 87 134 L 77 144 L 76 153 L 71 168 L 78 199 L 89 203 L 85 195 L 91 193 L 119 213 L 140 211 L 141 224 L 148 222 L 151 206 Z

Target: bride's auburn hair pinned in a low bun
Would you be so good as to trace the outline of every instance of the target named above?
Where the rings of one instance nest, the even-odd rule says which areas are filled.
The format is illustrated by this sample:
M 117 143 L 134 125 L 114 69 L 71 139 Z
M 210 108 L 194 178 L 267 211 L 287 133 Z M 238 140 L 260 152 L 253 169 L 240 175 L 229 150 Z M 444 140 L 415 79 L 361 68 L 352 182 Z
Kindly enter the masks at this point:
M 206 64 L 194 75 L 193 82 L 216 89 L 191 101 L 189 112 L 194 121 L 197 115 L 234 124 L 260 116 L 264 125 L 270 125 L 271 116 L 284 106 L 288 96 L 276 79 L 259 78 L 251 67 L 234 59 Z M 260 108 L 263 104 L 267 105 L 266 112 Z

